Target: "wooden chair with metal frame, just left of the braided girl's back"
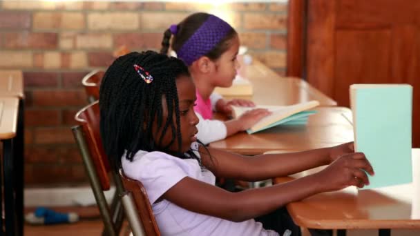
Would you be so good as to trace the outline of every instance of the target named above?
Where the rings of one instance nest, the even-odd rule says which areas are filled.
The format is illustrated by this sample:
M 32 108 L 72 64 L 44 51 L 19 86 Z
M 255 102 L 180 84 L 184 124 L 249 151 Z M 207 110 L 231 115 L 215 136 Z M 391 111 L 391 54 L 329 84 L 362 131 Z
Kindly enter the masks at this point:
M 103 235 L 118 235 L 124 218 L 119 197 L 123 192 L 123 187 L 120 177 L 115 171 L 111 171 L 102 146 L 99 135 L 99 101 L 95 101 L 79 110 L 75 115 L 75 120 L 79 125 L 72 128 L 73 135 L 82 154 L 90 186 L 102 215 L 104 222 Z M 110 172 L 116 186 L 111 207 L 108 206 L 104 196 L 104 191 L 111 188 L 111 181 L 108 176 Z

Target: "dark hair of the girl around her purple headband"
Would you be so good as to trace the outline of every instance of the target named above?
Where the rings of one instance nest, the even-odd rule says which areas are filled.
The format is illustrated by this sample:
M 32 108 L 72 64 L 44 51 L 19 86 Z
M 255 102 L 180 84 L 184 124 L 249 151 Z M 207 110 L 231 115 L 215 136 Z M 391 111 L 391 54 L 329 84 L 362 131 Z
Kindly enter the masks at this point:
M 194 34 L 198 28 L 207 21 L 211 14 L 204 13 L 204 12 L 197 12 L 194 14 L 189 15 L 189 17 L 185 18 L 183 21 L 178 23 L 178 31 L 176 35 L 173 35 L 172 44 L 171 44 L 171 30 L 167 29 L 164 32 L 164 36 L 162 39 L 162 49 L 160 50 L 161 53 L 167 54 L 169 50 L 169 46 L 171 46 L 172 50 L 178 52 L 182 45 Z M 216 46 L 213 47 L 209 52 L 207 52 L 206 57 L 209 57 L 212 61 L 216 61 L 224 52 L 229 50 L 230 40 L 236 37 L 238 33 L 233 28 L 227 33 L 225 38 L 223 38 Z

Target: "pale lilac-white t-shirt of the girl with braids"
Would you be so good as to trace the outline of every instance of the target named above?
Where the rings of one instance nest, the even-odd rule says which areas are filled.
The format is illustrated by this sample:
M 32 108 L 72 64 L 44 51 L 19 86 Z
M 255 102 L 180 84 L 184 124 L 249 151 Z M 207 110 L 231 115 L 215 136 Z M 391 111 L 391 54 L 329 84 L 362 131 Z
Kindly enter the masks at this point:
M 192 148 L 198 150 L 198 144 L 193 143 Z M 196 152 L 195 154 L 198 155 Z M 184 177 L 191 177 L 211 185 L 215 184 L 216 177 L 213 173 L 209 170 L 202 170 L 195 159 L 180 159 L 166 153 L 148 153 L 140 150 L 135 154 L 133 161 L 122 157 L 122 168 L 126 176 L 141 181 L 146 188 L 162 235 L 278 236 L 278 233 L 273 230 L 262 228 L 262 224 L 255 222 L 254 219 L 231 222 L 186 210 L 166 199 L 155 203 L 169 188 Z

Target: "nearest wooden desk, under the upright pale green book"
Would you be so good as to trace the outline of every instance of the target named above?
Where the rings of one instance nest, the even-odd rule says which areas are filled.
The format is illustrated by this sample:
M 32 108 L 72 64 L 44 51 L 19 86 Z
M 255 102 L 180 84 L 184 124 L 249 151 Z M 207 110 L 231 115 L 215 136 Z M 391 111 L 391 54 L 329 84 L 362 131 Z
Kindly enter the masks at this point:
M 413 173 L 420 172 L 420 149 L 412 150 Z M 292 177 L 278 177 L 274 184 L 310 175 L 315 168 Z M 320 193 L 302 201 L 287 204 L 287 210 L 298 226 L 322 229 L 385 229 L 381 235 L 390 235 L 391 228 L 420 228 L 420 182 L 360 190 L 345 188 L 331 193 Z

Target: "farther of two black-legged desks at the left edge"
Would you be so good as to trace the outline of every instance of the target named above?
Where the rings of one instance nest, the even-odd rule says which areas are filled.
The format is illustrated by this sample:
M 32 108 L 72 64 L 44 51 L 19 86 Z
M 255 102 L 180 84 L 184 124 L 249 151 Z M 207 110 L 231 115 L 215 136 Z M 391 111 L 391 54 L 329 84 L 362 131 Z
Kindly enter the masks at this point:
M 4 194 L 6 211 L 6 233 L 8 235 L 23 235 L 23 173 L 24 173 L 24 93 L 23 93 L 23 73 L 21 70 L 0 70 L 0 99 L 17 98 L 17 126 L 16 134 L 10 141 L 10 152 L 3 158 L 4 168 Z M 7 99 L 6 99 L 7 100 Z M 5 101 L 6 101 L 5 100 Z M 5 121 L 6 122 L 6 121 Z M 5 144 L 5 141 L 3 141 Z M 3 148 L 3 152 L 6 148 Z M 12 158 L 12 159 L 10 159 Z M 8 172 L 6 173 L 6 169 Z M 8 217 L 15 215 L 16 217 Z M 17 228 L 16 228 L 17 226 Z

